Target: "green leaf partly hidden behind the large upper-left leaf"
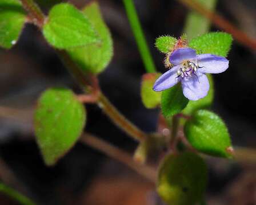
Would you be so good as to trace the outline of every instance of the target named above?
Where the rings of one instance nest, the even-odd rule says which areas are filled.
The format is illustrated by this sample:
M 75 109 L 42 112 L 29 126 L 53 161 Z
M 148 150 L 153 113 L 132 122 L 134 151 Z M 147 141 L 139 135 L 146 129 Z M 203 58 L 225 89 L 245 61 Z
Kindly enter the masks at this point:
M 90 3 L 83 10 L 101 38 L 101 43 L 73 48 L 69 51 L 71 58 L 80 65 L 83 71 L 100 73 L 113 57 L 113 41 L 106 26 L 97 2 Z

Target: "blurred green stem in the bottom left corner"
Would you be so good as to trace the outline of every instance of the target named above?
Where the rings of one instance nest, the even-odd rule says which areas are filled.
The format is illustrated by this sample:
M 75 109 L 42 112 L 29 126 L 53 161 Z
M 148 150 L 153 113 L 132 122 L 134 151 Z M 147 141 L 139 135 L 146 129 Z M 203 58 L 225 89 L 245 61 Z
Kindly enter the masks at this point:
M 22 205 L 35 205 L 35 203 L 32 202 L 29 198 L 23 196 L 19 192 L 15 191 L 13 188 L 8 187 L 3 183 L 0 183 L 0 192 L 9 196 L 11 199 L 14 199 Z

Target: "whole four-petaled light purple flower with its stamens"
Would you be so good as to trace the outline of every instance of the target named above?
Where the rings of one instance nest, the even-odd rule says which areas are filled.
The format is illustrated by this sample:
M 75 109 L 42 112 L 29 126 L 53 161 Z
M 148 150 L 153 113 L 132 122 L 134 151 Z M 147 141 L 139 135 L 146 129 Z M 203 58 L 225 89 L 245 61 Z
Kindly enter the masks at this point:
M 226 58 L 197 55 L 191 48 L 178 48 L 170 55 L 169 61 L 173 68 L 155 81 L 154 91 L 163 91 L 181 81 L 183 95 L 189 100 L 199 100 L 207 95 L 210 85 L 205 73 L 221 73 L 229 67 Z

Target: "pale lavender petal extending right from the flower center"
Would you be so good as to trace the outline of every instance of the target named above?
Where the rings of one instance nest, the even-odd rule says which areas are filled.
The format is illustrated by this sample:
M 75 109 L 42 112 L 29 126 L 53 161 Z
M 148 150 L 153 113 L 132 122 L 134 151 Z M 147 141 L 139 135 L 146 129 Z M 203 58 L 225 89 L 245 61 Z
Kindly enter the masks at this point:
M 201 73 L 221 73 L 229 67 L 229 60 L 222 56 L 202 54 L 197 56 L 199 65 L 198 72 Z

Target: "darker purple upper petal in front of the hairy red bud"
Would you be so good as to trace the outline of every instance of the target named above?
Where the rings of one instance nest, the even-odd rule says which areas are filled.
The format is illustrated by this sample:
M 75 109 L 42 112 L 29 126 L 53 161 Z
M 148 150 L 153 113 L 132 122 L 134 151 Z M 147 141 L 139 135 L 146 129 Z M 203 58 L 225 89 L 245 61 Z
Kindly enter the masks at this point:
M 181 64 L 183 60 L 195 59 L 196 57 L 197 54 L 195 50 L 191 48 L 178 48 L 170 55 L 169 61 L 174 65 L 178 65 Z

